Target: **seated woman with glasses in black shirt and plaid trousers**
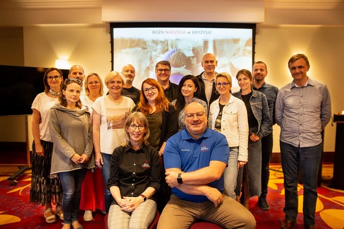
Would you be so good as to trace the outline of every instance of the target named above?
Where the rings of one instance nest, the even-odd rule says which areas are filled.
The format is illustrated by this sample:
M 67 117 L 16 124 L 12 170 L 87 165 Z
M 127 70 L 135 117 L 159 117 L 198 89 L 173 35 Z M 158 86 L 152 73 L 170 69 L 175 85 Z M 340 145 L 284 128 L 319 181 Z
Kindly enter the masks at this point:
M 160 188 L 158 151 L 149 146 L 149 124 L 143 113 L 134 112 L 124 125 L 126 143 L 111 156 L 108 188 L 113 197 L 108 228 L 148 228 L 156 214 Z

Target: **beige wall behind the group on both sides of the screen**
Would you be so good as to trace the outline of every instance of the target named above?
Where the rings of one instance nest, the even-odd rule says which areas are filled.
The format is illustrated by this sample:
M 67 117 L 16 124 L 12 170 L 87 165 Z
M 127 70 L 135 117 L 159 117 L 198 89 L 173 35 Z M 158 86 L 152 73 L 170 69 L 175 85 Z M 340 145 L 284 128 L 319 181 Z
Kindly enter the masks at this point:
M 288 58 L 305 53 L 311 62 L 309 76 L 330 89 L 332 112 L 344 110 L 340 93 L 344 77 L 339 73 L 344 56 L 343 26 L 258 26 L 256 38 L 256 60 L 268 65 L 267 83 L 278 87 L 289 83 L 292 78 L 287 69 Z M 63 55 L 71 64 L 84 66 L 86 73 L 94 71 L 104 79 L 111 70 L 108 24 L 24 28 L 26 66 L 54 66 L 55 59 Z M 329 124 L 325 129 L 324 151 L 334 151 L 335 126 Z M 279 152 L 279 127 L 275 125 L 274 130 L 273 151 Z

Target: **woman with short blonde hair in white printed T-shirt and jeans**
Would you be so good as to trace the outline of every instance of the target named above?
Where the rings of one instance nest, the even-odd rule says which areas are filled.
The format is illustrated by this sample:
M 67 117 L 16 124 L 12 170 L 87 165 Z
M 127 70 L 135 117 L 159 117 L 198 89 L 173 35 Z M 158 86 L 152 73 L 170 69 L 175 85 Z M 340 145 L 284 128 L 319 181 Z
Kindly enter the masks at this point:
M 111 205 L 111 193 L 106 183 L 110 177 L 110 158 L 114 149 L 124 143 L 124 122 L 135 107 L 131 98 L 120 94 L 124 76 L 111 71 L 105 76 L 105 85 L 109 94 L 97 98 L 92 105 L 93 144 L 95 164 L 102 170 L 105 189 L 105 211 Z

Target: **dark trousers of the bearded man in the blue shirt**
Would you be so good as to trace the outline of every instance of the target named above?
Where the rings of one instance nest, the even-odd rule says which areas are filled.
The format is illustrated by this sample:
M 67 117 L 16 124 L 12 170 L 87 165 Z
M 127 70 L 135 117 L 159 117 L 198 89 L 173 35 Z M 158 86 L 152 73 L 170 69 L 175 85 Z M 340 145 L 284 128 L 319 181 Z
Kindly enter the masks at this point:
M 266 199 L 267 185 L 269 183 L 269 163 L 272 154 L 273 134 L 270 133 L 261 139 L 261 199 Z

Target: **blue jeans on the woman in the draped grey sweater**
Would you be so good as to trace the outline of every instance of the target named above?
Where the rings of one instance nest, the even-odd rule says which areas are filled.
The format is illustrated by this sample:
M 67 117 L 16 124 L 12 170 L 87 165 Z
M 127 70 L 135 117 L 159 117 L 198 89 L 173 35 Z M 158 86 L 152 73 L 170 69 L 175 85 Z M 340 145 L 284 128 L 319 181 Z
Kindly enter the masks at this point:
M 74 221 L 78 221 L 81 197 L 80 191 L 86 172 L 87 169 L 82 168 L 79 170 L 58 173 L 63 188 L 62 210 L 65 224 L 71 224 Z

